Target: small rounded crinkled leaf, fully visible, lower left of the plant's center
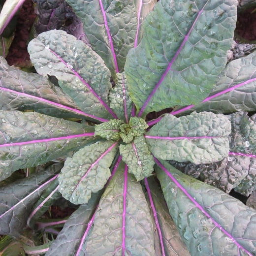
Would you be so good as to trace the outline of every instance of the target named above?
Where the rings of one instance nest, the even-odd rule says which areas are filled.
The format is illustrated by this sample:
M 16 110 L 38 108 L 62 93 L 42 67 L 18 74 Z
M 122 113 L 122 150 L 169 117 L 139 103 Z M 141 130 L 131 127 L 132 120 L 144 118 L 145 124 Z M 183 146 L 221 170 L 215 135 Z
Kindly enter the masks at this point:
M 109 167 L 117 153 L 117 142 L 99 141 L 67 158 L 59 175 L 59 191 L 74 204 L 87 203 L 92 192 L 104 187 Z

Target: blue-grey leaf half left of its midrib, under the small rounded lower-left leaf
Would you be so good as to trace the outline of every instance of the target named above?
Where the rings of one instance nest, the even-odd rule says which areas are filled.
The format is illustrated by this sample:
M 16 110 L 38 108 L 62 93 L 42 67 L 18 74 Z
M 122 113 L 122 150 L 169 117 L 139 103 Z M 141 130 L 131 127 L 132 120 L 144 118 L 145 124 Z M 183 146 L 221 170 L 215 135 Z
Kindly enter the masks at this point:
M 92 194 L 89 202 L 80 205 L 80 207 L 68 218 L 63 229 L 46 253 L 46 256 L 73 256 L 76 254 L 81 239 L 86 232 L 87 225 L 96 210 L 100 195 L 100 192 Z

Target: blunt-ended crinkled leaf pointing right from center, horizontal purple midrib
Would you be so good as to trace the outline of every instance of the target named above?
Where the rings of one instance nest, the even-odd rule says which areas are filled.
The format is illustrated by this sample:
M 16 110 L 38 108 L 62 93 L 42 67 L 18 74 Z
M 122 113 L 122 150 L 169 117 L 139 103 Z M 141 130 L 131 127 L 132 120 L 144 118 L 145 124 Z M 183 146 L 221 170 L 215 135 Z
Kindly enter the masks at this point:
M 228 155 L 230 122 L 224 115 L 196 113 L 177 118 L 165 115 L 146 132 L 152 154 L 162 160 L 195 164 L 222 160 Z

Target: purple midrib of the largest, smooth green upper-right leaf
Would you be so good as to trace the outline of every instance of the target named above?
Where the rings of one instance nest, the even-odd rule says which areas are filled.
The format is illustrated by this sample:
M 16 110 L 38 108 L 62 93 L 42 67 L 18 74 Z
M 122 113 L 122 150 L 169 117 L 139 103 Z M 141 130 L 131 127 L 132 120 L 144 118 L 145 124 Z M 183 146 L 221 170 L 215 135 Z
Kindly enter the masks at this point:
M 205 7 L 205 5 L 203 6 L 203 8 L 204 8 L 204 7 Z M 195 18 L 195 20 L 194 20 L 194 22 L 193 22 L 193 24 L 192 24 L 190 30 L 189 30 L 189 32 L 185 35 L 185 37 L 184 37 L 184 39 L 183 39 L 183 42 L 181 43 L 181 45 L 180 45 L 178 51 L 175 53 L 175 55 L 174 55 L 174 57 L 172 58 L 171 62 L 168 64 L 166 70 L 165 70 L 164 73 L 162 74 L 160 80 L 159 80 L 158 83 L 156 84 L 154 90 L 153 90 L 152 93 L 148 96 L 147 100 L 145 101 L 145 103 L 143 104 L 142 108 L 140 109 L 140 112 L 139 112 L 139 114 L 138 114 L 139 117 L 143 114 L 143 112 L 144 112 L 146 106 L 148 105 L 149 101 L 151 100 L 151 98 L 154 96 L 154 94 L 156 93 L 156 91 L 157 91 L 158 88 L 160 87 L 160 84 L 162 83 L 162 81 L 164 80 L 165 76 L 167 75 L 167 73 L 168 73 L 169 70 L 171 69 L 172 64 L 175 62 L 175 60 L 177 59 L 178 55 L 180 54 L 180 52 L 181 52 L 183 46 L 184 46 L 185 43 L 188 41 L 189 36 L 190 36 L 190 34 L 191 34 L 191 32 L 192 32 L 194 26 L 195 26 L 195 23 L 197 22 L 199 16 L 200 16 L 201 13 L 203 12 L 203 8 L 198 12 L 198 14 L 197 14 L 197 16 L 196 16 L 196 18 Z

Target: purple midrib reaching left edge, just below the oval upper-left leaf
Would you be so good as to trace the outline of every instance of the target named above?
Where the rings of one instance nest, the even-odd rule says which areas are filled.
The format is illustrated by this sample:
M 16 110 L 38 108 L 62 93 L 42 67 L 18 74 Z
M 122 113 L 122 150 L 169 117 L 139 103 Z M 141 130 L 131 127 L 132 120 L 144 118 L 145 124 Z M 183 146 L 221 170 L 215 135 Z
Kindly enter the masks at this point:
M 104 119 L 104 118 L 96 117 L 96 116 L 93 116 L 93 115 L 90 115 L 90 114 L 86 114 L 85 112 L 83 112 L 81 110 L 78 110 L 78 109 L 75 109 L 75 108 L 71 108 L 71 107 L 67 107 L 67 106 L 62 105 L 60 103 L 56 103 L 56 102 L 50 101 L 48 99 L 40 98 L 40 97 L 37 97 L 37 96 L 32 96 L 32 95 L 25 94 L 25 93 L 20 93 L 20 92 L 17 92 L 17 91 L 11 90 L 11 89 L 7 89 L 7 88 L 4 88 L 4 87 L 0 87 L 0 90 L 6 91 L 6 92 L 9 92 L 9 93 L 14 93 L 14 94 L 17 94 L 18 96 L 25 96 L 25 97 L 36 99 L 38 101 L 43 101 L 45 103 L 48 103 L 48 104 L 51 104 L 51 105 L 54 105 L 54 106 L 57 106 L 57 107 L 64 108 L 65 110 L 69 110 L 69 111 L 75 112 L 76 114 L 96 119 L 96 120 L 98 120 L 100 122 L 108 122 L 109 121 L 108 119 Z

